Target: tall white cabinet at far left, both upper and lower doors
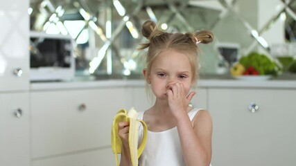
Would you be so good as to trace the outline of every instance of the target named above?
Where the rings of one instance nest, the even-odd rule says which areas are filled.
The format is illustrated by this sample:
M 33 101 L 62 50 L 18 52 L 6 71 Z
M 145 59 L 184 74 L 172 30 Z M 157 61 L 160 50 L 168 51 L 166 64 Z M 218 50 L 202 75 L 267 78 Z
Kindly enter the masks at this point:
M 29 166 L 29 0 L 0 1 L 0 165 Z

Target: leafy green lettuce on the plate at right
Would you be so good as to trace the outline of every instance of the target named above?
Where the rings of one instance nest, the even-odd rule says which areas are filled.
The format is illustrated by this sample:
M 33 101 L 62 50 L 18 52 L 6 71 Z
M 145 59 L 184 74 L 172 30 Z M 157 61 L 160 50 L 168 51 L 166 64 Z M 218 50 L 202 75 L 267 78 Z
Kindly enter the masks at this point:
M 241 57 L 238 62 L 243 64 L 245 68 L 253 66 L 259 72 L 259 75 L 277 76 L 281 71 L 281 67 L 275 61 L 264 54 L 256 52 Z

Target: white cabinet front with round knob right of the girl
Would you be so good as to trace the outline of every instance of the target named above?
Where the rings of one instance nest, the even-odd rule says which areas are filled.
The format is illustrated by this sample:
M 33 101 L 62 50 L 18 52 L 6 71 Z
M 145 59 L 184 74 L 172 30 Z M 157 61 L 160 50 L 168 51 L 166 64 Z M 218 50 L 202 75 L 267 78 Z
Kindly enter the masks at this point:
M 295 94 L 295 90 L 209 89 L 212 164 L 295 165 Z M 255 104 L 259 108 L 252 113 L 249 107 Z

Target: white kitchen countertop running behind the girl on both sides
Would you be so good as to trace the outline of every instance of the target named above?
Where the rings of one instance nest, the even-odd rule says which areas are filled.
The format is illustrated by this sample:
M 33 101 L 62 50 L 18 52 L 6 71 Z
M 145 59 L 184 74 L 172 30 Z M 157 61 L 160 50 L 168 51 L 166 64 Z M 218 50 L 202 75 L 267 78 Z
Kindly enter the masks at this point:
M 294 75 L 293 75 L 294 76 Z M 295 75 L 296 77 L 296 75 Z M 31 91 L 58 89 L 87 89 L 100 87 L 143 87 L 142 79 L 96 79 L 95 77 L 77 77 L 66 82 L 31 82 Z M 252 88 L 252 89 L 296 89 L 296 79 L 292 77 L 278 77 L 272 80 L 235 80 L 228 76 L 201 76 L 198 81 L 201 88 Z

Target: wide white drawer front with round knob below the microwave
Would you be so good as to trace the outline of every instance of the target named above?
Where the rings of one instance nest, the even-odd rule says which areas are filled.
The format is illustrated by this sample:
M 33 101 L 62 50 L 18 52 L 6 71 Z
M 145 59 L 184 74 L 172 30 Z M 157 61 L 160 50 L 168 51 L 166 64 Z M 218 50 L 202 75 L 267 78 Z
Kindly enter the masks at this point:
M 110 148 L 112 120 L 127 100 L 123 88 L 32 92 L 33 160 Z

